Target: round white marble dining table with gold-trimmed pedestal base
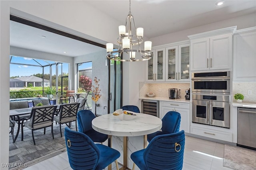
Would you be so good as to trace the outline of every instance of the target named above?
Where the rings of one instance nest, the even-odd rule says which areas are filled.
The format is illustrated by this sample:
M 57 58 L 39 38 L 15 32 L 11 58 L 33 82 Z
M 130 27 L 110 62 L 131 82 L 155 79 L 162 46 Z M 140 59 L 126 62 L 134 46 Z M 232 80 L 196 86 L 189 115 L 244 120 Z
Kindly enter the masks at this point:
M 147 135 L 162 128 L 162 120 L 158 117 L 144 113 L 135 114 L 136 117 L 132 120 L 120 120 L 112 113 L 98 116 L 92 120 L 94 130 L 114 136 L 114 139 L 109 139 L 108 146 L 120 151 L 121 157 L 123 157 L 122 160 L 118 159 L 118 162 L 122 162 L 122 168 L 119 170 L 126 170 L 129 166 L 131 169 L 133 162 L 130 159 L 130 154 L 138 149 L 146 148 Z M 127 141 L 129 142 L 127 143 Z M 111 169 L 110 164 L 108 170 Z

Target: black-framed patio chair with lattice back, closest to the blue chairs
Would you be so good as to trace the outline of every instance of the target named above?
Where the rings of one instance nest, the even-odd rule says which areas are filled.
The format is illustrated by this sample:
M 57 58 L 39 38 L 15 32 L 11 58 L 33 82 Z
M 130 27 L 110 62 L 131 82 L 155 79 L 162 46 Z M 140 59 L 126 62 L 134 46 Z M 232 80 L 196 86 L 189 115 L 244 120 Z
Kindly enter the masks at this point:
M 54 116 L 54 121 L 60 124 L 60 136 L 62 137 L 61 124 L 65 123 L 68 127 L 71 127 L 71 122 L 76 121 L 76 115 L 79 107 L 79 103 L 73 102 L 70 104 L 61 104 L 59 109 L 59 115 Z M 67 124 L 69 123 L 69 124 Z M 76 124 L 77 131 L 77 124 Z

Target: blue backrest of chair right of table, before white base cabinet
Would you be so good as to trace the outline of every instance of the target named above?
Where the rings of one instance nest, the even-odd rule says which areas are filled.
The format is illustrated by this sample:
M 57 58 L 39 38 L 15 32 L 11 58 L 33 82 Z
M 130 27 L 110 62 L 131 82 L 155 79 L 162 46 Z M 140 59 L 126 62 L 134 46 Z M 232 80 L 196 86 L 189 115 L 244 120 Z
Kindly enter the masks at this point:
M 175 133 L 180 130 L 180 113 L 176 111 L 168 111 L 162 118 L 162 131 Z

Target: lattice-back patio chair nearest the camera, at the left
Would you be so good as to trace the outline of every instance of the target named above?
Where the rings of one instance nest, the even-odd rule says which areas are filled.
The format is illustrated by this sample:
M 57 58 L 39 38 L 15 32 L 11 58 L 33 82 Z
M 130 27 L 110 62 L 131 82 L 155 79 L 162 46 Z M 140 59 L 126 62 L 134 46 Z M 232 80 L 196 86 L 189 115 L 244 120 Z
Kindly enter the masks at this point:
M 37 129 L 52 127 L 52 139 L 54 139 L 53 134 L 53 116 L 56 111 L 57 106 L 49 105 L 49 106 L 35 106 L 32 108 L 30 117 L 22 117 L 22 129 L 21 129 L 21 140 L 23 141 L 23 125 L 32 131 L 32 138 L 34 145 L 36 145 L 34 139 L 34 131 Z M 30 121 L 24 122 L 24 120 L 30 119 Z

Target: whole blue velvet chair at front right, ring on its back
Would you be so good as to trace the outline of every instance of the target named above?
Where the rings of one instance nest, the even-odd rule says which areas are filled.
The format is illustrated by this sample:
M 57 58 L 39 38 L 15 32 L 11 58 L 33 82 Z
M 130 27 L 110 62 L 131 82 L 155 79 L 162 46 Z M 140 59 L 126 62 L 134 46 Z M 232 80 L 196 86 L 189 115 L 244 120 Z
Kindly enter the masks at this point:
M 146 149 L 131 154 L 140 170 L 182 170 L 185 133 L 179 131 L 154 137 Z

